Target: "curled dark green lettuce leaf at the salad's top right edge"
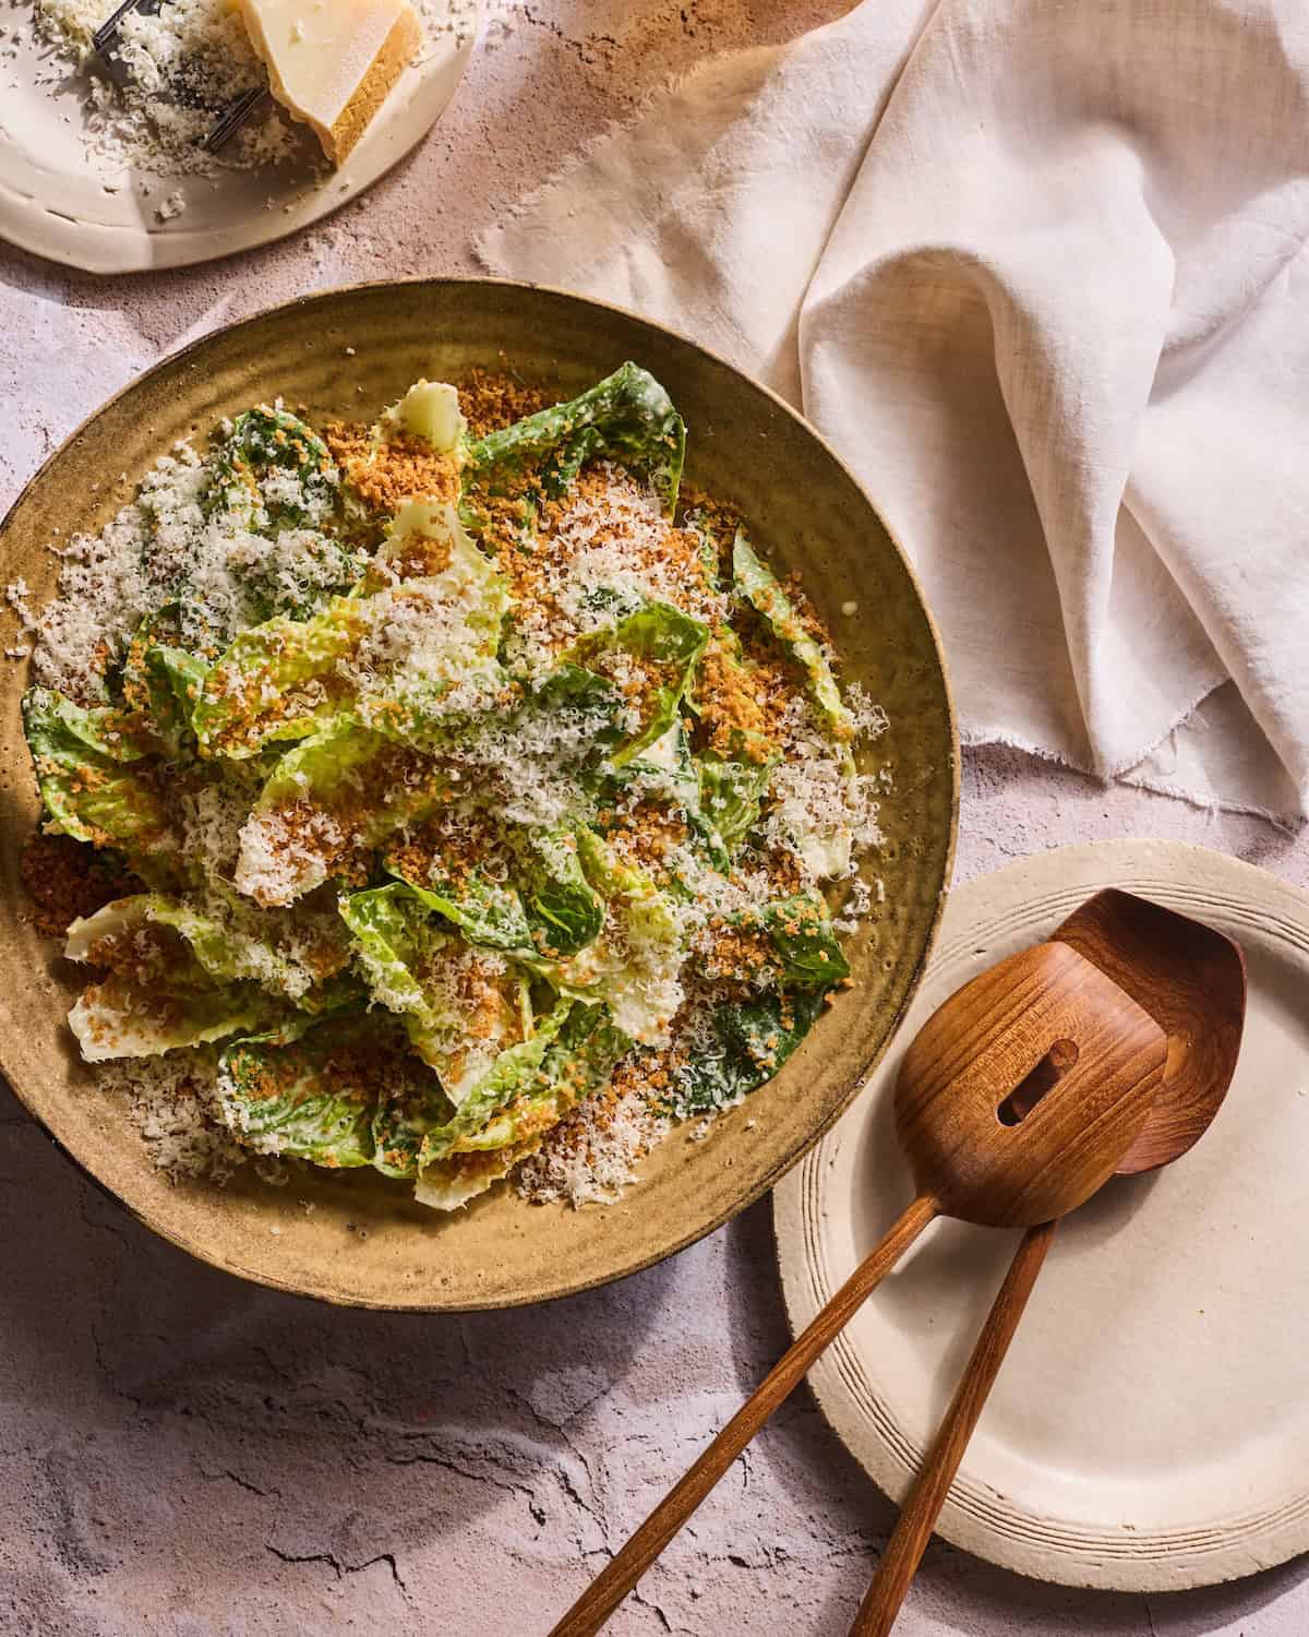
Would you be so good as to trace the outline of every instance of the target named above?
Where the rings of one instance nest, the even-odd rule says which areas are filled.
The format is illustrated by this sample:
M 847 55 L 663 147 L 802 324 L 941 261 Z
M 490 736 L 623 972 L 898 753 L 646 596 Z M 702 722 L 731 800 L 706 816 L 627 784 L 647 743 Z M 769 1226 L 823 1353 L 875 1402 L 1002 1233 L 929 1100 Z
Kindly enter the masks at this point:
M 468 449 L 473 473 L 522 471 L 545 462 L 548 494 L 563 494 L 586 460 L 609 455 L 645 471 L 664 516 L 677 506 L 686 458 L 686 426 L 653 375 L 623 363 L 569 403 L 527 416 L 476 439 Z

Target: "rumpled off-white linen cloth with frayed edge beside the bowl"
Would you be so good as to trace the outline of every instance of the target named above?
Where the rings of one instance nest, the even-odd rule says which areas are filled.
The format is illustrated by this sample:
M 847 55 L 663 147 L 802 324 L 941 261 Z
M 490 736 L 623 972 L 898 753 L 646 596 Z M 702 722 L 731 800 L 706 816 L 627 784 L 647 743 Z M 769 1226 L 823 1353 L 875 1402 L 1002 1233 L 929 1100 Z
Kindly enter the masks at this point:
M 803 408 L 964 737 L 1309 807 L 1309 8 L 864 0 L 710 61 L 481 242 Z

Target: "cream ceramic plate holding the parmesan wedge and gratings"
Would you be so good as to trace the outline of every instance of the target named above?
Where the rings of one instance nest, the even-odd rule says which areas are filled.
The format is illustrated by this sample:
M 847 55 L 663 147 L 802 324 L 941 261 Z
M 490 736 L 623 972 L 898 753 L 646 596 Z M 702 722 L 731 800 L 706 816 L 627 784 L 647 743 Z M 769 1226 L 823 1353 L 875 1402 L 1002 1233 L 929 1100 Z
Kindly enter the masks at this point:
M 31 16 L 31 0 L 0 5 L 0 23 Z M 39 83 L 44 47 L 21 44 L 0 64 L 0 237 L 90 273 L 187 267 L 298 232 L 371 187 L 432 128 L 473 54 L 479 8 L 461 39 L 432 41 L 406 69 L 339 172 L 306 136 L 303 159 L 216 177 L 142 178 L 106 169 L 82 141 L 82 83 Z M 38 74 L 38 62 L 46 70 Z M 142 192 L 142 182 L 149 192 Z M 106 185 L 108 183 L 108 185 Z M 180 192 L 185 210 L 160 219 Z

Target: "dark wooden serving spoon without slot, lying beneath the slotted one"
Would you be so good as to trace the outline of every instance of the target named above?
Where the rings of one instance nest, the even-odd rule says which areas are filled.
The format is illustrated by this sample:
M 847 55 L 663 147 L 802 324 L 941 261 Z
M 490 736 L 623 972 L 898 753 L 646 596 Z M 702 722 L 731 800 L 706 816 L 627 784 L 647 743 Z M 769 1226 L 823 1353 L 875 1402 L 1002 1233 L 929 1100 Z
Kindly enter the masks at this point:
M 1245 1026 L 1245 961 L 1212 927 L 1129 892 L 1100 892 L 1057 928 L 1144 1007 L 1168 1039 L 1163 1087 L 1118 1166 L 1119 1177 L 1180 1159 L 1212 1125 L 1237 1067 Z M 1023 1318 L 1054 1236 L 1029 1228 L 900 1511 L 851 1637 L 885 1637 L 905 1601 L 951 1483 Z

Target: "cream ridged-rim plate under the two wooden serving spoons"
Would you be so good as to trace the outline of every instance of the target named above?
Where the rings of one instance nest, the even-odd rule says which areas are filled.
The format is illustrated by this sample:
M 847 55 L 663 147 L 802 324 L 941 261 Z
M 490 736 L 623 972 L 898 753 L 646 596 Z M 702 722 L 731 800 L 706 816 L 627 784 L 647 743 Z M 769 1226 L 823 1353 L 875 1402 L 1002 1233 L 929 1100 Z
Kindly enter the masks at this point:
M 1242 945 L 1240 1064 L 1191 1154 L 1060 1226 L 938 1527 L 1041 1580 L 1165 1591 L 1309 1550 L 1309 897 L 1163 841 L 1065 848 L 962 887 L 897 1044 L 777 1188 L 777 1254 L 798 1333 L 913 1193 L 890 1100 L 918 1028 L 1106 886 Z M 895 1499 L 1016 1242 L 936 1223 L 810 1373 Z

